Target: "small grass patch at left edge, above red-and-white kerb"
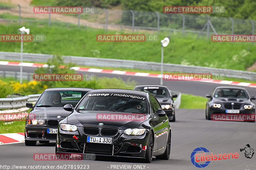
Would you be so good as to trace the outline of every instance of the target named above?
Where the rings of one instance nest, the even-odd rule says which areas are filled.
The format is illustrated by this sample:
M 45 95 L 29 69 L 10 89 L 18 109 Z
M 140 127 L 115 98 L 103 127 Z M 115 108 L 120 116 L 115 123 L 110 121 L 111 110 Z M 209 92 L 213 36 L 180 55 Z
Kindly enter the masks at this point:
M 0 134 L 24 132 L 26 121 L 0 122 Z

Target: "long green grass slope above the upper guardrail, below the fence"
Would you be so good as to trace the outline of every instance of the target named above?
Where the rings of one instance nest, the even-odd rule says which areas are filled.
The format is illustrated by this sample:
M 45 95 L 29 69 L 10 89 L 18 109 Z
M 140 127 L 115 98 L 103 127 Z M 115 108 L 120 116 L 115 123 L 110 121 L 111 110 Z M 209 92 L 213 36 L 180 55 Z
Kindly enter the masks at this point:
M 158 42 L 98 42 L 97 34 L 123 33 L 81 26 L 66 28 L 65 24 L 24 23 L 31 34 L 45 34 L 44 42 L 25 42 L 24 52 L 55 55 L 74 55 L 100 58 L 128 59 L 161 62 L 161 46 Z M 64 27 L 63 27 L 63 26 Z M 75 25 L 74 25 L 75 26 Z M 73 26 L 73 27 L 74 27 Z M 17 33 L 18 25 L 0 25 L 0 32 Z M 72 26 L 70 26 L 72 27 Z M 169 33 L 160 33 L 159 40 Z M 196 39 L 195 35 L 182 37 L 171 35 L 171 43 L 164 48 L 164 63 L 187 64 L 245 70 L 256 61 L 256 44 L 211 42 Z M 0 51 L 20 52 L 19 42 L 1 42 Z M 77 63 L 79 65 L 79 63 Z

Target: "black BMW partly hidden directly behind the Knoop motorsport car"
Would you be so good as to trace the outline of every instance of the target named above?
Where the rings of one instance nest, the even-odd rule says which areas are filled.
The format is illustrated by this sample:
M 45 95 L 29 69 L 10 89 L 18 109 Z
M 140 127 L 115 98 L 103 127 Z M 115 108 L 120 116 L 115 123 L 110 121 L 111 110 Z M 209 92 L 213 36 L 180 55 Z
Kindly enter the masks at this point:
M 161 104 L 169 121 L 175 122 L 175 105 L 173 98 L 176 98 L 177 94 L 172 95 L 165 85 L 136 85 L 134 90 L 152 93 Z

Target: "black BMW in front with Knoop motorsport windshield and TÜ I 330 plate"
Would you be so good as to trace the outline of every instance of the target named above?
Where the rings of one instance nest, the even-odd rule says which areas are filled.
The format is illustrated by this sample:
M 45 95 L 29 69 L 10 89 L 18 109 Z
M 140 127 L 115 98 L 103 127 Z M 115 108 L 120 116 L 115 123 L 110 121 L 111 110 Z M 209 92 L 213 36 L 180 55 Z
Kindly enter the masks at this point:
M 138 105 L 141 107 L 138 108 Z M 144 162 L 169 159 L 171 127 L 154 95 L 124 89 L 88 92 L 59 122 L 56 155 L 86 153 L 141 158 Z

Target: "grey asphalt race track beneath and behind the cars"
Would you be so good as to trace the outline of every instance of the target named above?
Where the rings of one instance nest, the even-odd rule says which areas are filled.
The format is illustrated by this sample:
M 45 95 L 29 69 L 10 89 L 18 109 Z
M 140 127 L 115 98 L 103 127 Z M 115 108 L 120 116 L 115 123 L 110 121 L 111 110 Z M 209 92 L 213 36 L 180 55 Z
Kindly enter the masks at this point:
M 33 72 L 36 68 L 23 67 L 24 72 Z M 17 66 L 0 66 L 0 70 L 19 71 Z M 135 76 L 124 76 L 104 73 L 85 73 L 93 74 L 98 77 L 120 77 L 124 80 L 130 78 L 138 84 L 158 84 L 159 78 L 145 78 Z M 192 81 L 164 81 L 170 89 L 182 93 L 189 93 L 204 96 L 211 93 L 219 86 L 218 84 L 192 82 Z M 256 96 L 256 89 L 245 87 L 249 93 Z M 171 122 L 172 127 L 172 149 L 169 160 L 153 159 L 150 164 L 140 163 L 139 159 L 123 159 L 112 157 L 99 157 L 96 160 L 81 161 L 35 161 L 35 153 L 54 153 L 55 144 L 37 144 L 37 146 L 25 146 L 24 143 L 0 145 L 0 169 L 4 165 L 15 166 L 47 166 L 52 165 L 89 165 L 89 169 L 117 169 L 115 165 L 131 165 L 129 169 L 198 169 L 190 160 L 191 152 L 197 147 L 204 147 L 213 154 L 239 153 L 237 159 L 211 160 L 210 164 L 203 169 L 227 169 L 227 170 L 253 170 L 256 169 L 256 154 L 252 159 L 246 159 L 243 152 L 239 149 L 250 144 L 256 150 L 256 126 L 252 122 L 220 122 L 208 121 L 204 119 L 202 109 L 177 109 L 176 122 Z M 202 153 L 202 152 L 198 152 Z M 208 155 L 208 153 L 207 153 Z M 135 167 L 142 165 L 141 168 Z M 1 167 L 2 166 L 2 167 Z M 120 168 L 118 169 L 124 169 Z M 145 166 L 145 167 L 144 167 Z M 112 167 L 112 168 L 111 168 Z M 117 167 L 117 166 L 116 166 Z M 14 168 L 17 169 L 17 168 Z M 19 168 L 24 169 L 24 168 Z M 68 168 L 67 168 L 68 169 Z M 72 169 L 69 167 L 69 169 Z M 73 168 L 75 169 L 75 168 Z

